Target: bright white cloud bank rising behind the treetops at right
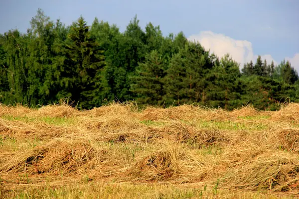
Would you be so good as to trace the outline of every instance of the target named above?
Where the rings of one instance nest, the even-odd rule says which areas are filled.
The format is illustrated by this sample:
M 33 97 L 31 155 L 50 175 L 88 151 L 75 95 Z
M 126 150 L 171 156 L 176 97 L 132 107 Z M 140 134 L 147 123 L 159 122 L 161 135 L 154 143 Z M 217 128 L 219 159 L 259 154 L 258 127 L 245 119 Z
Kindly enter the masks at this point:
M 191 35 L 189 41 L 198 41 L 206 50 L 214 52 L 218 57 L 223 57 L 229 53 L 232 58 L 240 63 L 240 68 L 243 68 L 244 63 L 256 61 L 258 55 L 255 55 L 252 48 L 252 43 L 247 40 L 236 40 L 224 34 L 214 33 L 212 31 L 202 31 L 199 34 Z M 270 54 L 261 55 L 262 60 L 271 63 L 272 60 L 278 64 Z M 293 58 L 286 58 L 290 60 L 292 66 L 299 71 L 299 53 L 295 54 Z

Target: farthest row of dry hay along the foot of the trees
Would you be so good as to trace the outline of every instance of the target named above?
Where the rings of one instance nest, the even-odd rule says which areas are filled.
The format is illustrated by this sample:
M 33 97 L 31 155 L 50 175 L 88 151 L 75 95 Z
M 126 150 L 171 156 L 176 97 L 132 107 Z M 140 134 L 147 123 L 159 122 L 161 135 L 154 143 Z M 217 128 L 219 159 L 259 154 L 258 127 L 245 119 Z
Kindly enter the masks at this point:
M 67 104 L 47 105 L 37 109 L 30 109 L 25 106 L 5 106 L 0 104 L 0 116 L 28 116 L 28 117 L 77 117 L 77 116 L 92 116 L 103 117 L 111 115 L 123 115 L 138 118 L 140 120 L 234 120 L 240 117 L 247 116 L 264 116 L 269 117 L 272 121 L 295 121 L 299 122 L 299 103 L 290 103 L 282 105 L 279 111 L 260 111 L 253 106 L 245 106 L 233 111 L 223 109 L 210 109 L 203 106 L 181 105 L 169 108 L 154 108 L 147 107 L 143 110 L 138 110 L 134 103 L 111 103 L 91 110 L 79 111 Z

